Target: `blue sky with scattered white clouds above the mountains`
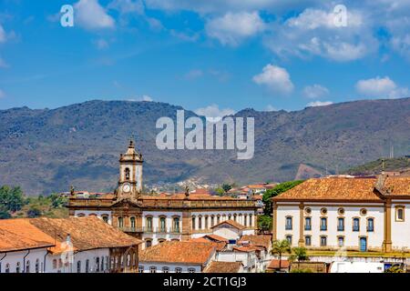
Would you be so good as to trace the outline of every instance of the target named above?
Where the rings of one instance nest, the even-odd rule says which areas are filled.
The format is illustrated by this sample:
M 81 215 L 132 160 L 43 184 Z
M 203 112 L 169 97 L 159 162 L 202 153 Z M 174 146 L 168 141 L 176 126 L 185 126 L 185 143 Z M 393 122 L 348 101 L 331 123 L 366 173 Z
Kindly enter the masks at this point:
M 74 27 L 60 25 L 62 5 Z M 410 0 L 0 3 L 0 109 L 104 99 L 210 116 L 298 110 L 408 97 L 409 72 Z

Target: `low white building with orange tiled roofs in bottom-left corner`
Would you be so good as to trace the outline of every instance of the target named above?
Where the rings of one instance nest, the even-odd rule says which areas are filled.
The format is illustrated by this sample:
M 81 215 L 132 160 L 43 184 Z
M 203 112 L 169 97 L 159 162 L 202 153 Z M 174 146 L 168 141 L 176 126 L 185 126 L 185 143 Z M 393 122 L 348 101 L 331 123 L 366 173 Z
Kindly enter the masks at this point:
M 0 273 L 136 273 L 139 244 L 96 217 L 4 219 Z

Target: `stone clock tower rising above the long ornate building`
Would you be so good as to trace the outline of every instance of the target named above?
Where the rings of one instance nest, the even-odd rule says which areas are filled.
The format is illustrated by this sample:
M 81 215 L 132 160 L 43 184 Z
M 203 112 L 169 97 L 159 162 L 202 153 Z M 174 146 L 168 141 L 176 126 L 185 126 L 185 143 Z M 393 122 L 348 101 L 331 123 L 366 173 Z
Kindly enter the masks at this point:
M 142 155 L 135 150 L 132 139 L 127 153 L 119 156 L 117 199 L 138 199 L 142 192 Z

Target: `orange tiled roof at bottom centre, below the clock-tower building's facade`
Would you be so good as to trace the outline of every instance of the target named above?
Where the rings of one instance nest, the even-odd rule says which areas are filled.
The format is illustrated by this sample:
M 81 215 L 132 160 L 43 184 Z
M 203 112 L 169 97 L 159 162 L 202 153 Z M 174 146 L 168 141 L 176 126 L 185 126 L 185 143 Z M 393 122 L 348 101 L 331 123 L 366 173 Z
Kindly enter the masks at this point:
M 171 241 L 163 242 L 156 246 L 149 246 L 139 254 L 141 263 L 175 263 L 204 265 L 215 253 L 213 243 L 195 241 Z

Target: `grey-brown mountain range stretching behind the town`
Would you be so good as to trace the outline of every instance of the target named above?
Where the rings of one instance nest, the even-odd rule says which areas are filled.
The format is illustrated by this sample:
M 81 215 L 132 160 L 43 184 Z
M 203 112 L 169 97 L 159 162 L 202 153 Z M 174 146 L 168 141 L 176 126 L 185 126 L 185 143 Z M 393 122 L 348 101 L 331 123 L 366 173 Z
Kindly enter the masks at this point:
M 237 160 L 227 150 L 159 150 L 159 117 L 180 106 L 155 102 L 89 101 L 56 109 L 0 111 L 0 185 L 26 194 L 116 186 L 118 155 L 135 135 L 145 158 L 147 183 L 187 178 L 220 183 L 284 181 L 303 165 L 334 173 L 386 156 L 410 152 L 410 99 L 356 101 L 295 112 L 242 110 L 255 118 L 255 155 Z M 186 116 L 194 115 L 186 111 Z

